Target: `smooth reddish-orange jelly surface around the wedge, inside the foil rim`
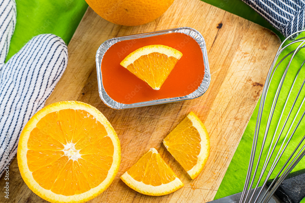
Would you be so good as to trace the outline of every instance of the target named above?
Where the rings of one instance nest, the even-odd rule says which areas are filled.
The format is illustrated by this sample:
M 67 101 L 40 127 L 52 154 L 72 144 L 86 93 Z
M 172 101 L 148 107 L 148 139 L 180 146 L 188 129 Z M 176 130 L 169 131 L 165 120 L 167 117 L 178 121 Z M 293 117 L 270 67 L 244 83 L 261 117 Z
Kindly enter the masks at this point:
M 166 45 L 183 54 L 160 90 L 152 89 L 120 65 L 131 52 L 152 44 Z M 199 44 L 183 33 L 168 33 L 117 42 L 104 54 L 101 68 L 106 93 L 113 100 L 125 104 L 188 95 L 199 87 L 204 76 L 203 55 Z

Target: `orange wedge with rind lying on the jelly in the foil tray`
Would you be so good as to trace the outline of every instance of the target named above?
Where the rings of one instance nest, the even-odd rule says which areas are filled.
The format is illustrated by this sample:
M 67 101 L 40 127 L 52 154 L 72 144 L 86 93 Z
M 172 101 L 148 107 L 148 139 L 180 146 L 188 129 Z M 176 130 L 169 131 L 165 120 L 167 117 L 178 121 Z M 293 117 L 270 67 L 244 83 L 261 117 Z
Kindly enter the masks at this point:
M 133 51 L 120 65 L 159 90 L 181 57 L 182 53 L 172 47 L 149 45 Z

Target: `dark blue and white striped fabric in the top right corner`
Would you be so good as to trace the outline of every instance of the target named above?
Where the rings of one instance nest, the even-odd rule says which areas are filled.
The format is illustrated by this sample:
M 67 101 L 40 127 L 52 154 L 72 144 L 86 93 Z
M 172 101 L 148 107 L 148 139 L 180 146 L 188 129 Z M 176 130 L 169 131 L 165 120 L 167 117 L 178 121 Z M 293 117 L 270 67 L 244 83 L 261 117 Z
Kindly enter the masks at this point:
M 304 30 L 305 0 L 242 0 L 288 37 Z M 295 38 L 294 35 L 292 38 Z

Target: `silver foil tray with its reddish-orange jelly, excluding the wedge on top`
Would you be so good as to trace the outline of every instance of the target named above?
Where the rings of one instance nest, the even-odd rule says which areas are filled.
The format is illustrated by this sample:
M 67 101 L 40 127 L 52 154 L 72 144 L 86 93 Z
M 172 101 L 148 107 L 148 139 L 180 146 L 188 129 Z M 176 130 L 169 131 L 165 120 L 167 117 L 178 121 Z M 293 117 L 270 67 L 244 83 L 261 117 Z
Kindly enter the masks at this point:
M 159 90 L 120 65 L 128 54 L 148 45 L 165 45 L 183 54 Z M 194 99 L 210 85 L 205 41 L 189 27 L 106 40 L 96 53 L 96 67 L 100 97 L 114 109 Z

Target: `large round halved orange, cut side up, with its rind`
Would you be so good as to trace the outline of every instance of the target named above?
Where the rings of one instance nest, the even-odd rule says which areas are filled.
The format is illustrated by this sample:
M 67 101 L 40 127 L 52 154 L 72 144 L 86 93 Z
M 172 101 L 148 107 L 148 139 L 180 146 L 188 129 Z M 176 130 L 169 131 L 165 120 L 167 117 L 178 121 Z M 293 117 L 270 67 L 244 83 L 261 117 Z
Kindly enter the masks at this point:
M 50 202 L 85 202 L 116 176 L 120 141 L 106 117 L 78 101 L 50 104 L 25 125 L 18 166 L 27 186 Z

